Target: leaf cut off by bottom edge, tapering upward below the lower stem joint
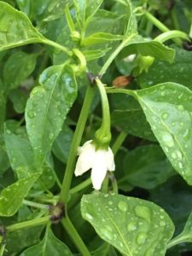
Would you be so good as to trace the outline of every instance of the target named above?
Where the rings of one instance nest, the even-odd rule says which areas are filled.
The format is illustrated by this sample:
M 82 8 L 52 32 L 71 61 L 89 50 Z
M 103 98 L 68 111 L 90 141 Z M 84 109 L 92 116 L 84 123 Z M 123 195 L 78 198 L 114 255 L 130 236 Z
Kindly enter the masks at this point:
M 72 256 L 69 248 L 58 238 L 52 230 L 47 228 L 44 239 L 37 245 L 27 248 L 20 256 Z

